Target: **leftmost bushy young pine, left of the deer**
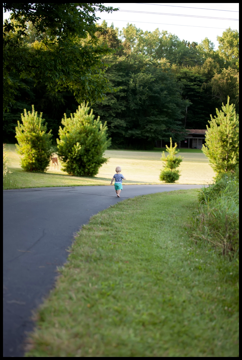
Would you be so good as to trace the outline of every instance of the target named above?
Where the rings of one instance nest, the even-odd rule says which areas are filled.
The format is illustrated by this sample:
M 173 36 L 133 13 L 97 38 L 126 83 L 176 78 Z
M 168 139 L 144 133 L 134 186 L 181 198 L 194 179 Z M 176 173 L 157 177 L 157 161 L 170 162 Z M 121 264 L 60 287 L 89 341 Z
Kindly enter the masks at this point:
M 21 114 L 22 124 L 18 121 L 16 136 L 18 153 L 23 155 L 21 166 L 26 171 L 44 172 L 49 166 L 51 148 L 51 130 L 46 134 L 46 123 L 43 125 L 42 113 L 38 116 L 32 105 L 32 113 L 24 109 Z

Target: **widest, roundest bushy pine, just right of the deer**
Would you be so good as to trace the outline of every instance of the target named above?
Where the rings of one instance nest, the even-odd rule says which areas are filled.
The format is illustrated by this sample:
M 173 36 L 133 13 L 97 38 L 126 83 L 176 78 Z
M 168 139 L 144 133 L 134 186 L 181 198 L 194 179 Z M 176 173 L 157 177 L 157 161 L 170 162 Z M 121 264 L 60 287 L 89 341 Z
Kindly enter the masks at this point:
M 75 176 L 94 176 L 107 158 L 104 151 L 111 144 L 107 139 L 106 122 L 100 118 L 94 120 L 93 110 L 88 104 L 79 106 L 76 113 L 67 118 L 64 114 L 57 139 L 58 156 L 62 160 L 63 170 Z

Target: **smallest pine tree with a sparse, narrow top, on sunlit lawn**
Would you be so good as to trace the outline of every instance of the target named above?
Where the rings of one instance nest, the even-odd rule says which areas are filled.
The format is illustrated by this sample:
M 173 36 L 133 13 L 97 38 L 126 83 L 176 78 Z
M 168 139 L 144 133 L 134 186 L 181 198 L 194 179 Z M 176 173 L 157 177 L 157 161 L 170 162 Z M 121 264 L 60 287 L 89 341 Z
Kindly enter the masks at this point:
M 176 150 L 176 147 L 176 143 L 175 146 L 172 147 L 172 139 L 170 138 L 170 147 L 166 145 L 166 151 L 169 154 L 166 157 L 165 152 L 163 151 L 161 157 L 161 160 L 165 162 L 165 166 L 163 167 L 163 170 L 161 170 L 160 180 L 165 181 L 165 183 L 175 183 L 180 177 L 179 171 L 175 169 L 180 165 L 183 157 L 175 156 L 179 152 L 179 150 Z

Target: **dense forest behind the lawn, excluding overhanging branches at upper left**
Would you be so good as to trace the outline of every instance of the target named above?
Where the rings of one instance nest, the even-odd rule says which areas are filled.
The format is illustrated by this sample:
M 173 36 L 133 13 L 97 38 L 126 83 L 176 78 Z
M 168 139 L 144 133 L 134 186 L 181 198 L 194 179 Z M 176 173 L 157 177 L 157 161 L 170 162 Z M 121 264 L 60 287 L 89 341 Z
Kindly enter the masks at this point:
M 107 122 L 112 148 L 148 149 L 156 140 L 168 141 L 171 136 L 174 141 L 182 140 L 185 129 L 206 129 L 210 114 L 214 116 L 216 108 L 227 103 L 227 96 L 239 112 L 237 31 L 229 28 L 218 36 L 219 48 L 215 50 L 207 38 L 197 44 L 181 41 L 167 31 L 143 32 L 133 24 L 121 31 L 113 25 L 108 27 L 105 21 L 96 27 L 92 51 L 101 59 L 102 81 L 109 86 L 106 94 L 95 98 L 83 91 L 82 98 L 77 98 L 75 84 L 48 86 L 41 77 L 24 77 L 11 68 L 11 81 L 21 86 L 4 112 L 5 142 L 15 142 L 20 114 L 24 108 L 30 111 L 32 104 L 43 113 L 55 139 L 63 114 L 70 116 L 81 101 L 89 101 L 94 114 Z M 43 44 L 45 34 L 37 32 L 31 23 L 26 23 L 26 29 L 21 46 L 31 51 L 42 47 L 43 58 L 48 51 Z M 89 42 L 90 36 L 80 37 L 79 46 Z M 98 53 L 99 49 L 103 50 Z M 75 54 L 70 55 L 65 48 L 63 51 L 66 62 L 72 62 Z M 97 77 L 93 79 L 88 88 L 95 90 Z

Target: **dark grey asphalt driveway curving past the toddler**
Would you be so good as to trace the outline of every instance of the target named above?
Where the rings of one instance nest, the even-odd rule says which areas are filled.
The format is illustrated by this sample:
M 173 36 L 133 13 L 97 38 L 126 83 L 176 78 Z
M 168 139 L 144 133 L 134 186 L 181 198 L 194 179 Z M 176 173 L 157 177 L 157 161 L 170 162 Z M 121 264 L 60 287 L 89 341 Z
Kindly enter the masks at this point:
M 73 235 L 90 217 L 125 198 L 202 185 L 75 186 L 3 192 L 3 356 L 22 357 L 31 310 L 54 285 Z

